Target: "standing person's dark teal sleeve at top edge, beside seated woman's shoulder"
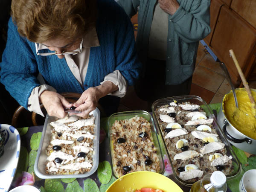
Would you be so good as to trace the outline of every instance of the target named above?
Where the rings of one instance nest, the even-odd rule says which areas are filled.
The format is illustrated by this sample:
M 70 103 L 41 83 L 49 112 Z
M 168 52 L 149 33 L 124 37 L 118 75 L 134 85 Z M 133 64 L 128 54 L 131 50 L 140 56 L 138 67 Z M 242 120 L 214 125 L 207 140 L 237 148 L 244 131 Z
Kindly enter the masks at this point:
M 140 0 L 119 0 L 117 3 L 125 10 L 130 18 L 137 13 L 138 6 L 140 6 Z

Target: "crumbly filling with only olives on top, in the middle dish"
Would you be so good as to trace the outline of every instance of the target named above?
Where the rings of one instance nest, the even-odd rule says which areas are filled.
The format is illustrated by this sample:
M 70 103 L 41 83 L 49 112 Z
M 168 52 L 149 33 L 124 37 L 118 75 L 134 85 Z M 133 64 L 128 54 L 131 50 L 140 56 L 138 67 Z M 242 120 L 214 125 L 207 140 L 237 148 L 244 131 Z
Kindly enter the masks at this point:
M 111 127 L 112 163 L 116 177 L 135 171 L 160 172 L 151 124 L 143 117 L 116 120 Z

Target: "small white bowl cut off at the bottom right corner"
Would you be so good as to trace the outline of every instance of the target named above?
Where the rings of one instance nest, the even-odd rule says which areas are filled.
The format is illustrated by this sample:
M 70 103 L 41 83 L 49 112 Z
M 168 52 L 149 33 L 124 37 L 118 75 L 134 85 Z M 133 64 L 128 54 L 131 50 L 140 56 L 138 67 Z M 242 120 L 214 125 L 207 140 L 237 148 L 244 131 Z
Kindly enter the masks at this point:
M 239 182 L 240 192 L 256 192 L 256 169 L 245 172 Z

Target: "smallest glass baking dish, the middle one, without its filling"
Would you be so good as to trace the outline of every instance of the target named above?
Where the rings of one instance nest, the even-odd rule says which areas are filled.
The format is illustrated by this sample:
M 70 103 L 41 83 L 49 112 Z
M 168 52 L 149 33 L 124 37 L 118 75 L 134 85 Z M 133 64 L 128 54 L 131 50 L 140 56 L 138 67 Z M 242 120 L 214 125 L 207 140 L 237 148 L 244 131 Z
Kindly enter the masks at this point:
M 111 136 L 111 127 L 113 125 L 113 123 L 116 120 L 124 120 L 124 119 L 131 119 L 134 116 L 141 116 L 145 119 L 148 120 L 148 122 L 151 125 L 151 136 L 153 137 L 153 142 L 154 142 L 154 146 L 157 148 L 157 155 L 159 157 L 159 162 L 160 162 L 160 174 L 163 174 L 165 169 L 164 169 L 164 161 L 163 161 L 163 155 L 162 155 L 162 149 L 160 147 L 159 144 L 159 133 L 157 132 L 157 129 L 155 128 L 154 122 L 153 122 L 153 118 L 151 116 L 150 113 L 148 113 L 147 111 L 125 111 L 125 112 L 119 112 L 119 113 L 114 113 L 112 114 L 109 118 L 108 118 L 108 137 L 109 137 L 109 141 L 110 141 L 110 150 L 111 150 L 111 160 L 112 160 L 112 169 L 113 166 L 116 166 L 113 164 L 113 141 L 112 141 L 112 136 Z M 117 173 L 114 171 L 115 169 L 113 169 L 113 175 L 118 178 Z

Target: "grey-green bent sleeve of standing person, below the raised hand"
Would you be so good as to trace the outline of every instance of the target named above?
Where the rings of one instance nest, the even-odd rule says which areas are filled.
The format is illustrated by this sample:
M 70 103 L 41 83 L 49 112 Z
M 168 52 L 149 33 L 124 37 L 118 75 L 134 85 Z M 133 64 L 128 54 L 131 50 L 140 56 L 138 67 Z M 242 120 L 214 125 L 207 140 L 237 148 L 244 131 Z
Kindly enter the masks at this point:
M 189 12 L 182 6 L 170 18 L 174 23 L 174 28 L 180 38 L 186 43 L 200 41 L 209 35 L 211 29 L 210 0 L 201 0 L 200 3 L 193 5 Z

